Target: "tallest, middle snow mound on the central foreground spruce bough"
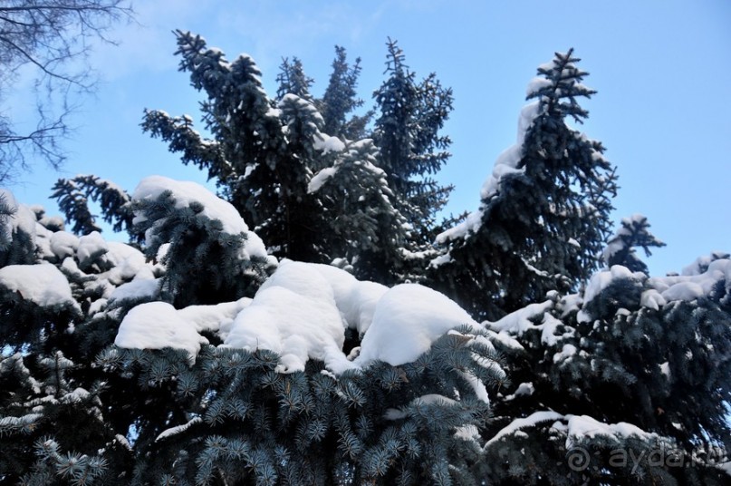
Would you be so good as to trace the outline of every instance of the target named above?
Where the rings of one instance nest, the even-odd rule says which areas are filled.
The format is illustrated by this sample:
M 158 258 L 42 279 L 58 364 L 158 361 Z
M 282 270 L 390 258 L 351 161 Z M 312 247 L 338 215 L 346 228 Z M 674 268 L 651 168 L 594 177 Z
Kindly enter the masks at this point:
M 313 358 L 339 374 L 353 367 L 342 353 L 345 328 L 365 332 L 387 290 L 340 268 L 284 260 L 236 316 L 224 344 L 274 351 L 281 372 L 303 370 Z

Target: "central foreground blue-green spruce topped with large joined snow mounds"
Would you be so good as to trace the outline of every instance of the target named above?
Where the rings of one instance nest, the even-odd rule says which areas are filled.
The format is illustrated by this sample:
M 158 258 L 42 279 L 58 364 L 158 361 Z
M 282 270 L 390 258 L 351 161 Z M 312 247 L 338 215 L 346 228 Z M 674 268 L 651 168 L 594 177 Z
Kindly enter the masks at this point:
M 343 325 L 362 334 L 355 358 Z M 149 326 L 177 332 L 165 343 Z M 445 296 L 292 261 L 248 303 L 137 306 L 116 342 L 100 365 L 182 406 L 138 429 L 133 483 L 469 483 L 484 383 L 505 381 Z

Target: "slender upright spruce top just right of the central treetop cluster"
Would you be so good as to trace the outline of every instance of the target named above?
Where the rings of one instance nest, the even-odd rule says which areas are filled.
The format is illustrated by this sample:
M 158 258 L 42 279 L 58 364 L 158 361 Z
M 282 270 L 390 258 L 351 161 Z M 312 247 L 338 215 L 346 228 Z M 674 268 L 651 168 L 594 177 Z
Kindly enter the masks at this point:
M 379 167 L 386 171 L 395 206 L 411 225 L 409 249 L 428 248 L 439 209 L 451 187 L 440 186 L 432 175 L 447 162 L 451 141 L 440 133 L 452 110 L 452 91 L 432 73 L 418 82 L 404 53 L 389 40 L 386 81 L 373 93 L 376 120 L 373 138 L 380 150 Z M 414 271 L 428 262 L 407 258 Z M 423 265 L 422 265 L 423 264 Z

